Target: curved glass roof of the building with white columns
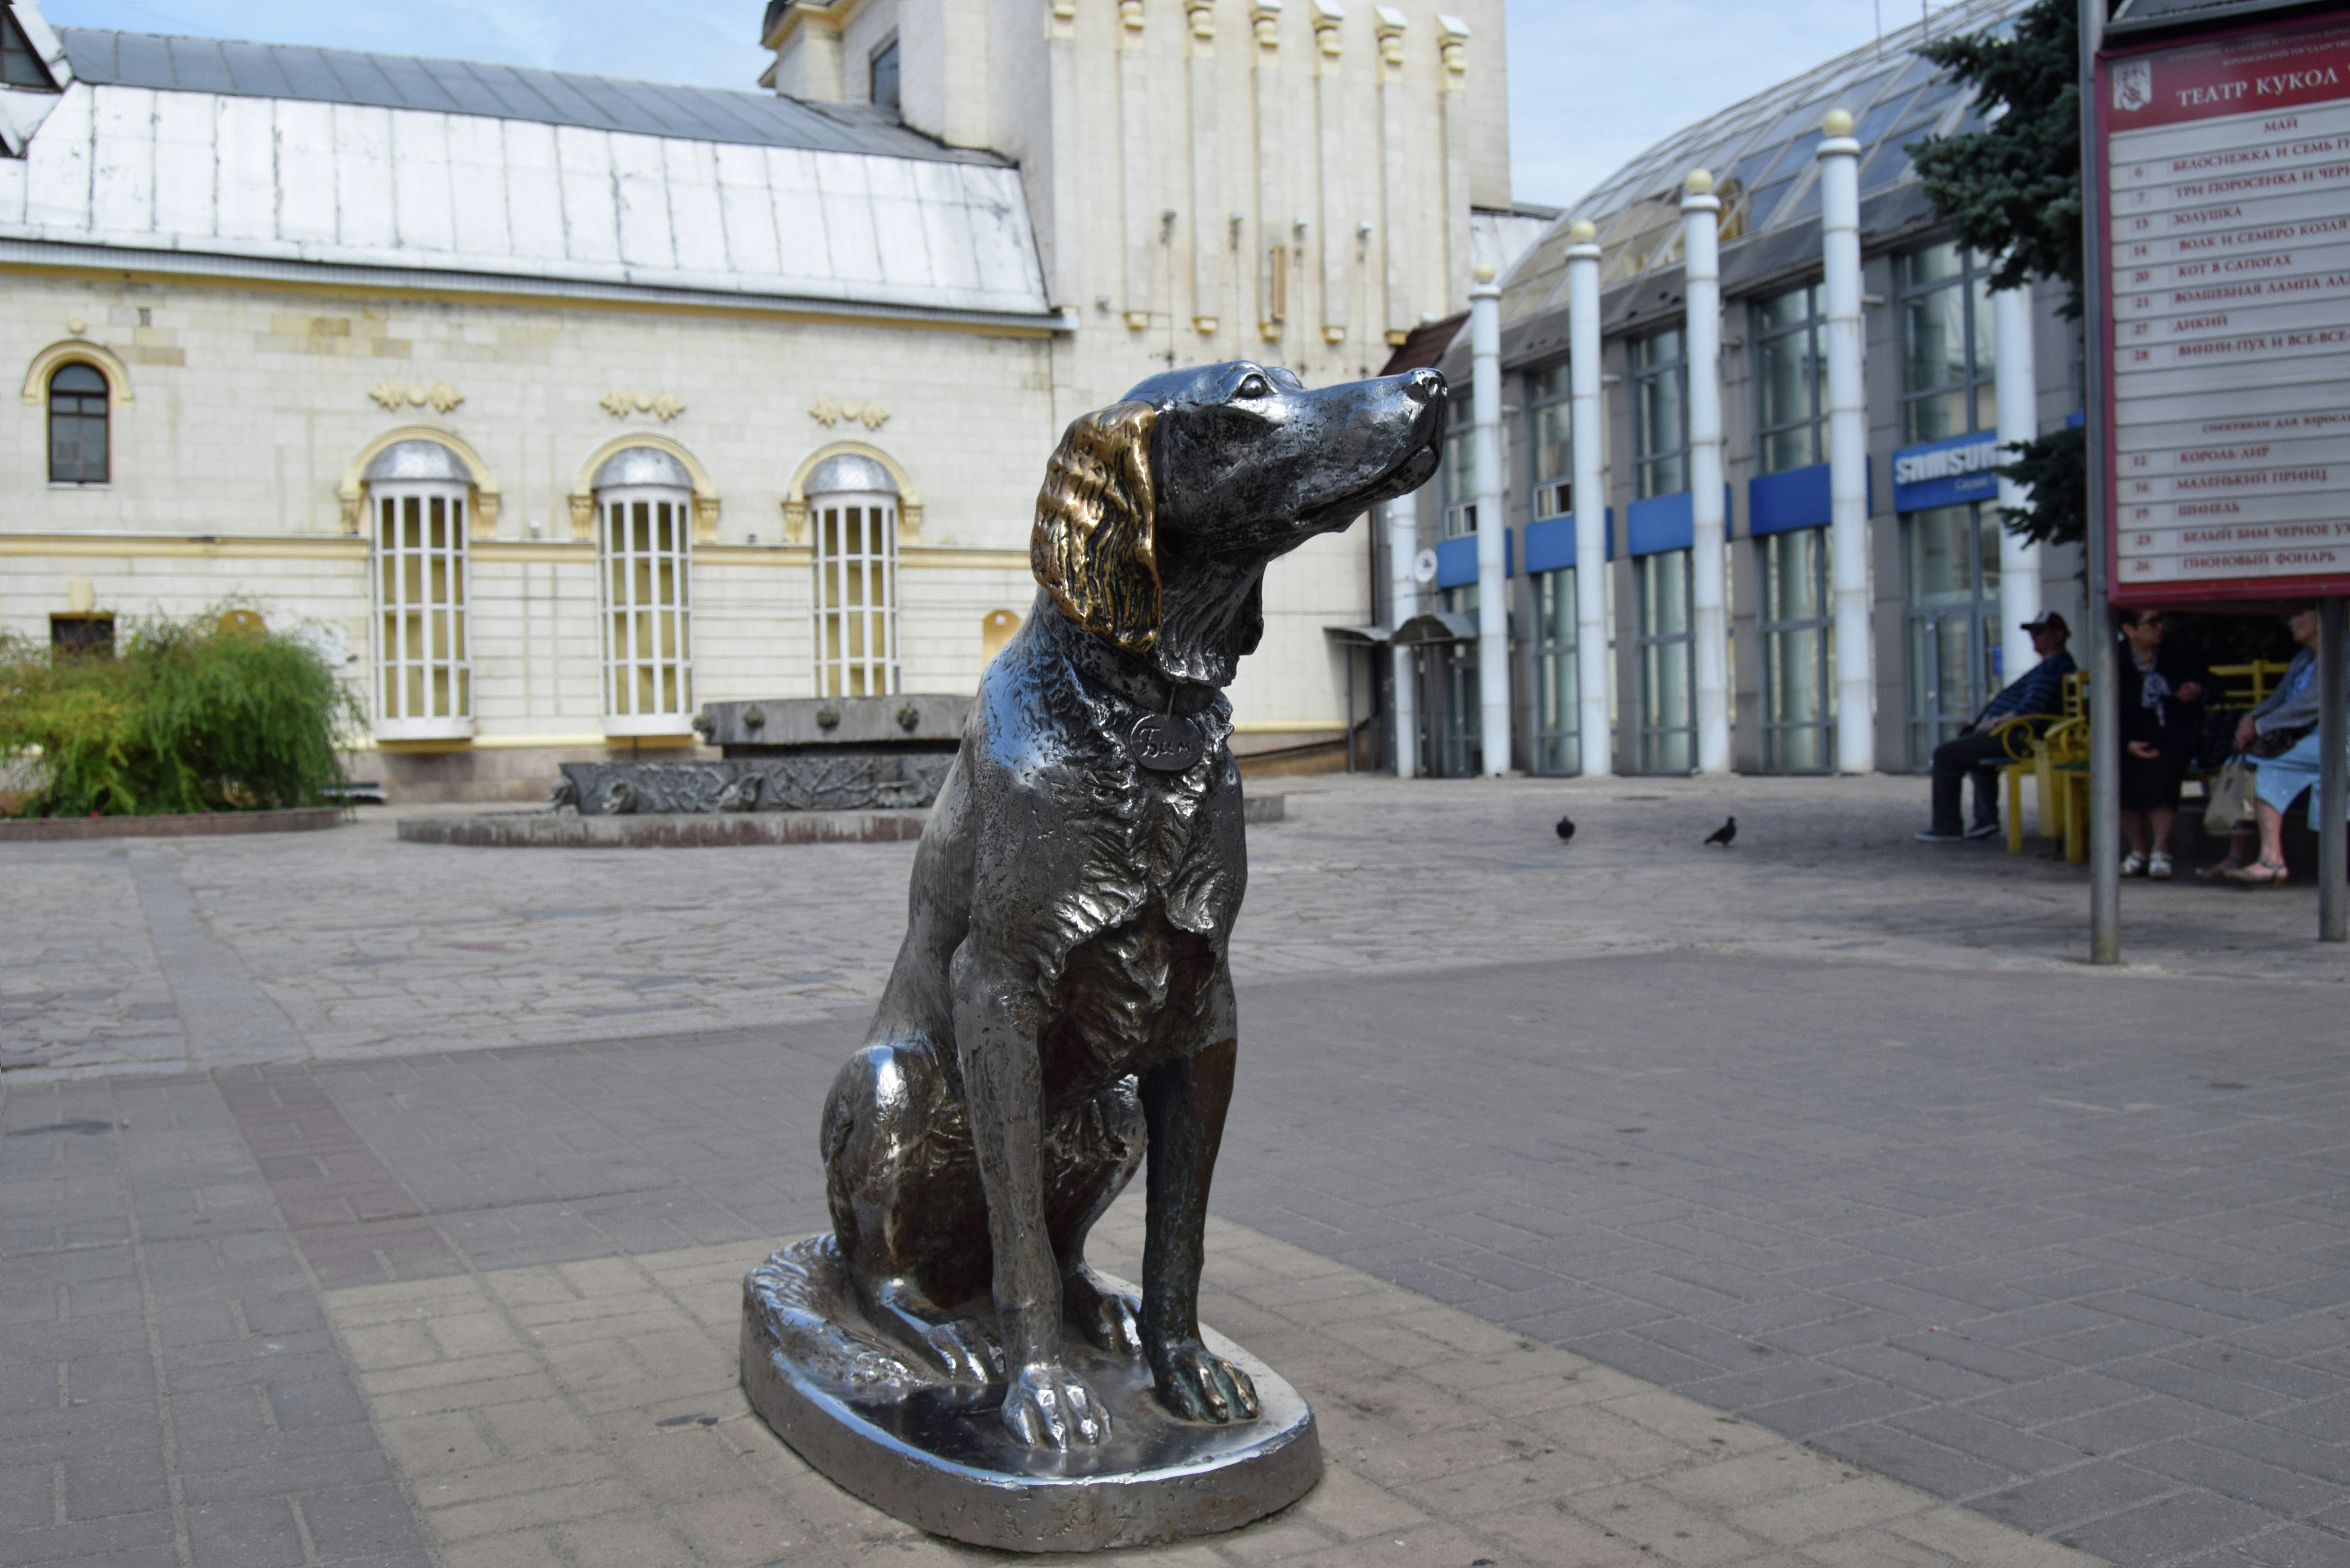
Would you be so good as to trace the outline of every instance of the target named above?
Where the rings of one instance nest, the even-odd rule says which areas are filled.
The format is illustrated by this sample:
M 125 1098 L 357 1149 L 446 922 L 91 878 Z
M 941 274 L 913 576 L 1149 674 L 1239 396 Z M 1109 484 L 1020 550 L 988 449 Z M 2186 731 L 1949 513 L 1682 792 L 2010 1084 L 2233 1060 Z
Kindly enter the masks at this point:
M 1958 0 L 1925 21 L 1666 136 L 1567 207 L 1502 284 L 1502 320 L 1565 303 L 1567 228 L 1600 230 L 1600 287 L 1680 266 L 1680 181 L 1713 174 L 1723 197 L 1723 244 L 1819 214 L 1819 129 L 1831 108 L 1852 115 L 1861 143 L 1861 195 L 1918 179 L 1904 148 L 1948 136 L 1972 118 L 1972 94 L 1913 49 L 1955 33 L 2007 33 L 2030 0 Z

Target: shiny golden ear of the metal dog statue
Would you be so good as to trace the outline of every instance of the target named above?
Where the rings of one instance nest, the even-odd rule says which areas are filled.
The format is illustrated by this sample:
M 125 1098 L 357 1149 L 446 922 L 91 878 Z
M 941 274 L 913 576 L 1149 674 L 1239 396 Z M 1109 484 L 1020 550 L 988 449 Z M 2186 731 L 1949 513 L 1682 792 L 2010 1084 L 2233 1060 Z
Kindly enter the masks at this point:
M 1029 564 L 1060 611 L 1135 654 L 1159 642 L 1156 423 L 1147 402 L 1114 402 L 1072 423 L 1046 468 L 1029 534 Z

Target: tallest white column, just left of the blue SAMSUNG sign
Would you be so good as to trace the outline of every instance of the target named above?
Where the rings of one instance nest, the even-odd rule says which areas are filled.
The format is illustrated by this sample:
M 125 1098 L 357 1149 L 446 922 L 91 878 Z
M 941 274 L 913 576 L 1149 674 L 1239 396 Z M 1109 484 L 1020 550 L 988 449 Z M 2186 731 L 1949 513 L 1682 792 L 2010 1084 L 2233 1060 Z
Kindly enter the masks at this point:
M 1878 766 L 1878 661 L 1868 628 L 1868 402 L 1861 388 L 1861 143 L 1831 108 L 1819 143 L 1819 249 L 1828 294 L 1828 588 L 1835 599 L 1835 771 Z

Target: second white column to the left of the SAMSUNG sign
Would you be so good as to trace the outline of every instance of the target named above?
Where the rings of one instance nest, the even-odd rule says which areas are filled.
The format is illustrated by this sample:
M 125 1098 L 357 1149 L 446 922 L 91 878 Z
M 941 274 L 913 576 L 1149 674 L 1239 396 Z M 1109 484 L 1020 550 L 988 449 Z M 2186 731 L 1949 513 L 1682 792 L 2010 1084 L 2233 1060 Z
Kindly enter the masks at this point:
M 1697 644 L 1697 771 L 1730 771 L 1730 545 L 1723 541 L 1723 202 L 1713 176 L 1683 181 L 1690 339 L 1690 635 Z

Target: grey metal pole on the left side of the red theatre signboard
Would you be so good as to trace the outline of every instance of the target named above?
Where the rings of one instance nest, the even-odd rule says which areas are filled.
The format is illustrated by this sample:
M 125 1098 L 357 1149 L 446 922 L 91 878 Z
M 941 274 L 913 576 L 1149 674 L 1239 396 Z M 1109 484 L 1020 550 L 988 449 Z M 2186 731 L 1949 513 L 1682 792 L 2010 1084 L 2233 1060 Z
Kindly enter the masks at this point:
M 2122 722 L 2120 670 L 2113 649 L 2113 609 L 2106 604 L 2106 524 L 2113 508 L 2106 409 L 2113 404 L 2113 343 L 2106 341 L 2103 266 L 2106 160 L 2096 141 L 2096 52 L 2106 42 L 2106 0 L 2080 0 L 2080 223 L 2087 247 L 2084 393 L 2089 409 L 2089 961 L 2122 961 Z

